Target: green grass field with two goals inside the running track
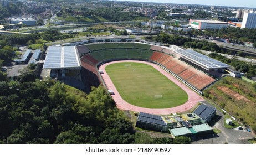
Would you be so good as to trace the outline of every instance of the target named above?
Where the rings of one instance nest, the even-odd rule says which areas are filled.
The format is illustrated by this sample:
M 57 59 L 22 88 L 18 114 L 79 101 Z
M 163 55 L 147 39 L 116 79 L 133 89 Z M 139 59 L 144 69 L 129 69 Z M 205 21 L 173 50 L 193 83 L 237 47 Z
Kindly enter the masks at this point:
M 122 99 L 132 105 L 170 108 L 182 105 L 188 100 L 185 91 L 150 65 L 115 63 L 107 65 L 106 72 Z M 155 95 L 162 95 L 162 98 L 155 99 Z

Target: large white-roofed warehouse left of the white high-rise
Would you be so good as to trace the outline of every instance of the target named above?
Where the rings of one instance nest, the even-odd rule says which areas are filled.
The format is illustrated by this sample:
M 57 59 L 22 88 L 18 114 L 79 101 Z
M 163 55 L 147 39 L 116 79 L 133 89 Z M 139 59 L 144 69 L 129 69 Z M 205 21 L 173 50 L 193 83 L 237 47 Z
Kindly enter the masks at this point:
M 193 29 L 222 29 L 227 28 L 227 22 L 221 22 L 218 20 L 194 20 L 190 19 L 190 27 Z

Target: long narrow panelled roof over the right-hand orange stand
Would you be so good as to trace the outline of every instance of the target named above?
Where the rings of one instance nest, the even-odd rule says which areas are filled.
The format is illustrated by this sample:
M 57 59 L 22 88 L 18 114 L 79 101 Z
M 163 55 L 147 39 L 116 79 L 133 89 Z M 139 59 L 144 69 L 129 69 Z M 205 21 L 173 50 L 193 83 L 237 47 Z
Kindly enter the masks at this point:
M 183 58 L 187 58 L 195 61 L 197 64 L 200 64 L 207 69 L 217 69 L 217 68 L 229 68 L 230 66 L 222 63 L 221 61 L 209 58 L 206 55 L 197 53 L 193 50 L 176 50 Z

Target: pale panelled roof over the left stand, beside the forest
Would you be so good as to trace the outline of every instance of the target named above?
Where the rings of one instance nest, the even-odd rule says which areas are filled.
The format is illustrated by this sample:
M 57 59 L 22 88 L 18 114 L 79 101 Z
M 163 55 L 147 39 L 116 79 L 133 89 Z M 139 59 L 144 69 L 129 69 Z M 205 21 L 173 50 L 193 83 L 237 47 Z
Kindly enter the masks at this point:
M 75 46 L 49 46 L 43 69 L 80 68 Z

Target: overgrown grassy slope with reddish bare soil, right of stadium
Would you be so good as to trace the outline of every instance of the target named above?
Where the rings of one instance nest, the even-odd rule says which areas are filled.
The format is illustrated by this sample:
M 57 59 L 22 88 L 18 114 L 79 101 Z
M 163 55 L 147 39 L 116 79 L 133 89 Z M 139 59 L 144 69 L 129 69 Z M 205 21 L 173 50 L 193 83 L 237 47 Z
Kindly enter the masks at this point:
M 203 93 L 240 122 L 256 130 L 256 91 L 252 84 L 227 76 Z

